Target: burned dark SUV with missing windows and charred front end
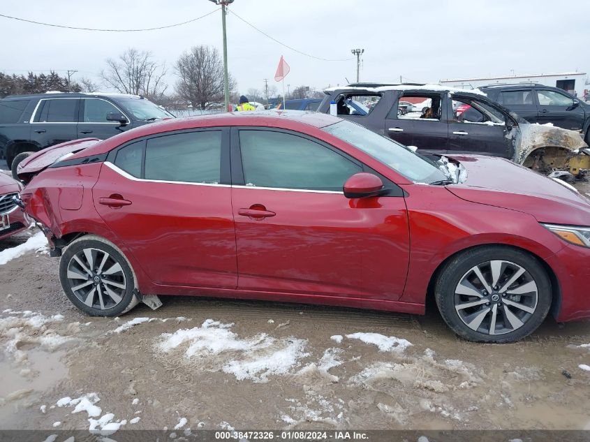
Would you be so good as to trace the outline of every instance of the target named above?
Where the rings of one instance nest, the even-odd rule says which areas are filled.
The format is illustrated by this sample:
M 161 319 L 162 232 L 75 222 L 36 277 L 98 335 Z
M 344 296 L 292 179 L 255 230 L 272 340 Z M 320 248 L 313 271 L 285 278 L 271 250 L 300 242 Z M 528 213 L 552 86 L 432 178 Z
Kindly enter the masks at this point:
M 372 98 L 367 112 L 355 103 Z M 583 177 L 590 169 L 588 145 L 579 131 L 530 124 L 479 91 L 453 89 L 438 84 L 332 87 L 318 112 L 330 112 L 337 103 L 338 116 L 388 136 L 423 154 L 483 154 L 550 174 L 568 170 Z M 424 101 L 419 112 L 399 112 L 403 101 Z M 575 158 L 572 165 L 570 159 Z

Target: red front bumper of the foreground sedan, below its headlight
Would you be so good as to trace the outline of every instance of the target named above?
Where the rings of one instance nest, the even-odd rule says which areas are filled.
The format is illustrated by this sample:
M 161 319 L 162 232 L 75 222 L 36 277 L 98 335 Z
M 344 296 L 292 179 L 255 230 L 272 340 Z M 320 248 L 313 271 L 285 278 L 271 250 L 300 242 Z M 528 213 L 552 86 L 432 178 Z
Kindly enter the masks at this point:
M 556 320 L 590 318 L 590 249 L 568 245 L 546 261 L 556 274 L 561 292 Z

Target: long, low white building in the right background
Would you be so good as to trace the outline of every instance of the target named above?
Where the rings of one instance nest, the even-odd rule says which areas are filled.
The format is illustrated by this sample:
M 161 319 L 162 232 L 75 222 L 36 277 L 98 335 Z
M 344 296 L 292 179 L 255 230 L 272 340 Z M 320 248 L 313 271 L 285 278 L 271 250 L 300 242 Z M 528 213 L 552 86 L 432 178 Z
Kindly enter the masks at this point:
M 544 86 L 559 87 L 560 89 L 566 90 L 570 94 L 579 97 L 583 97 L 584 91 L 590 89 L 590 84 L 586 84 L 586 73 L 583 72 L 507 75 L 506 77 L 456 78 L 441 80 L 440 83 L 445 86 L 458 87 L 460 89 L 475 89 L 476 87 L 486 86 L 487 84 L 537 83 L 543 84 Z

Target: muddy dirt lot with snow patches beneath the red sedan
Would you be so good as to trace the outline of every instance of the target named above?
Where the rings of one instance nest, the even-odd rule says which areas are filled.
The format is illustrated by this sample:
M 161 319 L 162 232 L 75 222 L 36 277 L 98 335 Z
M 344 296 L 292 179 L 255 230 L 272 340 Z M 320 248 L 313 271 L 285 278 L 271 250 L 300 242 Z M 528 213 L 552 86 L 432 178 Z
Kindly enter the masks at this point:
M 432 307 L 165 297 L 98 319 L 57 263 L 41 248 L 0 265 L 2 429 L 590 429 L 590 321 L 481 345 Z

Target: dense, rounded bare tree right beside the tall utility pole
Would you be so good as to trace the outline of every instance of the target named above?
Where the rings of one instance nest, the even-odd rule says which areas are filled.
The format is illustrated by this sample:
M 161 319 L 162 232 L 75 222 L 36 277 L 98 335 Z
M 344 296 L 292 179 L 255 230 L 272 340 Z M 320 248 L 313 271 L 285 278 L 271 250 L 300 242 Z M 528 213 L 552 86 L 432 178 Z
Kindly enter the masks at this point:
M 176 91 L 193 108 L 212 108 L 223 101 L 223 61 L 215 47 L 191 47 L 176 62 Z M 230 91 L 235 82 L 230 77 Z

